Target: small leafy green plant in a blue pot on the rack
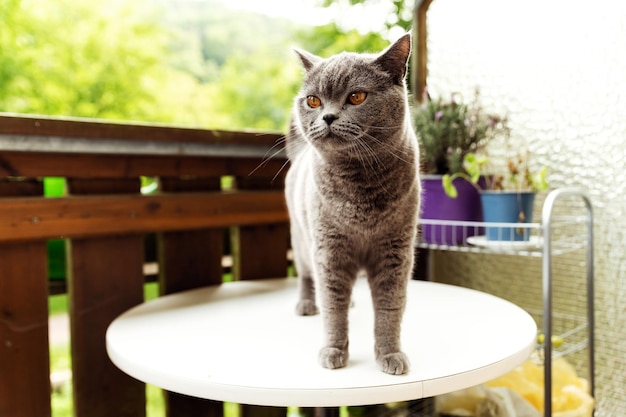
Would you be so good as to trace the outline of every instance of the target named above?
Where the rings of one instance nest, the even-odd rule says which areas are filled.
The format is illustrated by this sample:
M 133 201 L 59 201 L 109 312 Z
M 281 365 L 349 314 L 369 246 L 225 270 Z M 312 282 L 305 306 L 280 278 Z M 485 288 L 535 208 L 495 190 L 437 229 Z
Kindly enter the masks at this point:
M 507 159 L 505 174 L 486 175 L 483 171 L 488 171 L 489 159 L 467 154 L 465 172 L 444 175 L 442 186 L 448 196 L 456 198 L 455 179 L 466 180 L 480 192 L 485 222 L 511 224 L 486 227 L 487 240 L 528 241 L 530 229 L 520 224 L 532 222 L 535 194 L 548 189 L 547 167 L 532 172 L 529 161 L 530 152 L 516 154 Z

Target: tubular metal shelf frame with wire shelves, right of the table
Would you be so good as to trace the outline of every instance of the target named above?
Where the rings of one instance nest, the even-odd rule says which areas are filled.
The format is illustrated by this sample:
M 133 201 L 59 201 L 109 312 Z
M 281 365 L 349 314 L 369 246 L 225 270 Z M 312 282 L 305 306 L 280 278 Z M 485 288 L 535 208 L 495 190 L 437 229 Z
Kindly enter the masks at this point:
M 584 215 L 559 216 L 555 214 L 556 204 L 563 199 L 580 200 L 584 206 Z M 585 225 L 585 235 L 569 234 L 568 230 L 579 230 L 568 227 Z M 490 253 L 514 256 L 530 256 L 542 259 L 542 298 L 543 298 L 543 334 L 552 335 L 554 319 L 559 313 L 553 311 L 553 261 L 555 256 L 584 249 L 585 251 L 585 280 L 586 280 L 586 317 L 577 317 L 578 323 L 562 335 L 566 338 L 574 333 L 586 331 L 586 339 L 574 344 L 566 344 L 564 349 L 556 350 L 551 343 L 551 336 L 545 340 L 539 349 L 543 353 L 544 364 L 544 416 L 552 416 L 552 361 L 556 357 L 571 354 L 584 348 L 588 349 L 589 387 L 593 397 L 595 392 L 595 346 L 594 346 L 594 248 L 593 248 L 593 207 L 589 197 L 577 189 L 556 189 L 546 197 L 541 220 L 536 223 L 486 223 L 454 220 L 420 219 L 422 232 L 430 229 L 430 235 L 436 236 L 439 243 L 429 243 L 420 238 L 417 247 L 468 253 Z M 531 243 L 502 242 L 490 245 L 472 245 L 467 243 L 468 238 L 483 234 L 486 228 L 516 229 L 524 234 Z M 450 229 L 448 229 L 450 228 Z M 577 232 L 578 233 L 578 232 Z M 450 238 L 451 237 L 451 238 Z M 471 239 L 470 239 L 471 240 Z M 533 244 L 534 242 L 535 244 Z M 432 275 L 432 274 L 430 274 Z M 586 320 L 586 321 L 585 321 Z

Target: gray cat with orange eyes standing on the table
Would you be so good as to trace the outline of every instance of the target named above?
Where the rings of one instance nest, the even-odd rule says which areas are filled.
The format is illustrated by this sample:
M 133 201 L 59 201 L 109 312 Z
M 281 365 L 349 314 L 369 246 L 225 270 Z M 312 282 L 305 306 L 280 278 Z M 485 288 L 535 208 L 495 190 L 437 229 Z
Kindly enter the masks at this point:
M 295 99 L 286 198 L 299 275 L 297 313 L 318 313 L 323 367 L 348 362 L 348 308 L 357 274 L 368 277 L 375 309 L 376 361 L 403 374 L 400 350 L 406 285 L 419 212 L 418 145 L 404 83 L 411 37 L 378 55 L 328 59 L 296 51 L 305 79 Z

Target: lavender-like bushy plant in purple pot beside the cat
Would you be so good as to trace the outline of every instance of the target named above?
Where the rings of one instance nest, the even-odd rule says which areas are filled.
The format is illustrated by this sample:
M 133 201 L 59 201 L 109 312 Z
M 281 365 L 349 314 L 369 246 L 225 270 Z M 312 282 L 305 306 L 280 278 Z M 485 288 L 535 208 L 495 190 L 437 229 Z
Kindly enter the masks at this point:
M 465 103 L 455 93 L 449 100 L 431 99 L 426 94 L 414 113 L 415 131 L 420 143 L 422 166 L 422 219 L 482 221 L 480 197 L 462 178 L 453 178 L 456 199 L 446 195 L 442 176 L 465 174 L 466 155 L 483 149 L 492 139 L 508 135 L 506 119 L 486 113 L 476 90 L 473 100 Z M 422 225 L 427 243 L 456 245 L 479 230 L 441 225 Z

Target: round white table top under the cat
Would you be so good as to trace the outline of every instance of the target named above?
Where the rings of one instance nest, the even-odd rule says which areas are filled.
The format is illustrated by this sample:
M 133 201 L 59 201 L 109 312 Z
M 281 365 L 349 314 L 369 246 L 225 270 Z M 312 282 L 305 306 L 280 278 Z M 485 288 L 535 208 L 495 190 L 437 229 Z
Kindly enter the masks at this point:
M 317 363 L 321 316 L 295 314 L 295 279 L 240 281 L 137 306 L 109 327 L 111 360 L 170 391 L 268 406 L 331 407 L 430 397 L 508 372 L 535 347 L 522 309 L 461 287 L 410 281 L 403 322 L 408 374 L 378 370 L 367 281 L 354 288 L 350 360 Z

